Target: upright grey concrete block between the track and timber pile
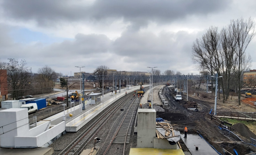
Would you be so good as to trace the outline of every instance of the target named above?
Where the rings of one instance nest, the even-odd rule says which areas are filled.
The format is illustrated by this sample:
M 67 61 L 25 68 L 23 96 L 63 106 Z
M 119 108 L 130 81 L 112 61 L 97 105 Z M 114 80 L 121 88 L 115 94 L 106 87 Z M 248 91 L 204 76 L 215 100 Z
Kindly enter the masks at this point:
M 155 109 L 138 109 L 138 147 L 154 147 L 156 137 L 156 111 Z

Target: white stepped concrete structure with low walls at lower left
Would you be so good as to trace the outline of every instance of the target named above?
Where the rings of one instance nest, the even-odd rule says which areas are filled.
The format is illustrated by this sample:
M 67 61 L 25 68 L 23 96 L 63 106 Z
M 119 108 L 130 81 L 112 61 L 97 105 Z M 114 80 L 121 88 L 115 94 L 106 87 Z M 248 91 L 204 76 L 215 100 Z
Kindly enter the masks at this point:
M 39 126 L 29 129 L 27 109 L 2 110 L 0 111 L 0 118 L 1 147 L 41 147 L 65 131 L 65 121 L 55 126 L 51 126 L 50 121 L 45 121 Z

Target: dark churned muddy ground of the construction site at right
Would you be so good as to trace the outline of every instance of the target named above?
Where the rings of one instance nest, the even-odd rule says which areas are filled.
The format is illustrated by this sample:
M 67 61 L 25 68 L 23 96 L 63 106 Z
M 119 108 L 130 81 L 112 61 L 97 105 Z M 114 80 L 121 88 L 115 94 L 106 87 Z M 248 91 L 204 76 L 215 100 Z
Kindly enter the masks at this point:
M 244 155 L 250 153 L 250 148 L 248 144 L 245 143 L 227 143 L 230 141 L 240 141 L 237 137 L 232 136 L 226 130 L 220 130 L 218 126 L 214 123 L 213 120 L 207 117 L 207 113 L 210 112 L 211 109 L 214 109 L 214 95 L 207 94 L 208 97 L 201 97 L 203 95 L 199 95 L 199 97 L 189 97 L 189 100 L 197 102 L 198 112 L 189 111 L 185 109 L 182 105 L 184 102 L 176 102 L 173 100 L 171 96 L 173 92 L 170 91 L 167 87 L 164 87 L 162 90 L 162 94 L 168 100 L 169 106 L 164 107 L 165 112 L 157 112 L 157 117 L 163 118 L 164 120 L 171 121 L 171 124 L 174 128 L 179 130 L 181 134 L 184 134 L 184 127 L 188 128 L 188 134 L 201 134 L 204 139 L 206 139 L 215 149 L 222 154 L 222 148 L 228 150 L 228 152 L 235 154 L 233 148 L 236 149 L 238 154 Z M 243 97 L 241 97 L 243 98 Z M 245 100 L 253 100 L 253 98 Z M 240 106 L 238 105 L 238 97 L 233 96 L 232 100 L 229 100 L 225 103 L 222 101 L 217 102 L 217 111 L 243 111 L 243 112 L 255 112 L 255 106 L 248 106 L 246 103 L 242 103 Z M 231 127 L 232 132 L 239 135 L 239 137 L 245 141 L 250 142 L 250 137 L 255 137 L 255 134 L 251 132 L 248 127 L 244 124 L 234 124 Z M 183 141 L 180 140 L 181 147 L 186 152 L 188 149 L 184 145 Z

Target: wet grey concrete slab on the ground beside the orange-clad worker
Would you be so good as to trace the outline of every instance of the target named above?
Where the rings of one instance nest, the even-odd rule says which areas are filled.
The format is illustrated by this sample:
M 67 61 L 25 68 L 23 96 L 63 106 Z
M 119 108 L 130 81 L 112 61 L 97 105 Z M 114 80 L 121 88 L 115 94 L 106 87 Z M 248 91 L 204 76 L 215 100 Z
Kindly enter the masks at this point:
M 184 138 L 184 134 L 181 134 L 181 139 L 192 155 L 218 155 L 218 153 L 199 135 L 189 134 L 187 138 Z M 199 147 L 199 149 L 196 150 L 195 146 Z

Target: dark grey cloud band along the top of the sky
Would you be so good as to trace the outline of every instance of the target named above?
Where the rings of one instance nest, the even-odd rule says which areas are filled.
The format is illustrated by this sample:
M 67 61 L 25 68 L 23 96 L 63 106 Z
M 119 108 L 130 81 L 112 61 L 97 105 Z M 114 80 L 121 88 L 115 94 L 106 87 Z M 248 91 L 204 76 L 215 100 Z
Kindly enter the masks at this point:
M 214 0 L 96 0 L 83 1 L 19 0 L 2 2 L 4 15 L 15 20 L 34 20 L 39 26 L 54 26 L 72 21 L 114 21 L 123 18 L 138 28 L 149 21 L 172 22 L 187 15 L 207 15 L 225 9 L 230 1 Z

